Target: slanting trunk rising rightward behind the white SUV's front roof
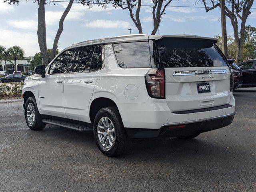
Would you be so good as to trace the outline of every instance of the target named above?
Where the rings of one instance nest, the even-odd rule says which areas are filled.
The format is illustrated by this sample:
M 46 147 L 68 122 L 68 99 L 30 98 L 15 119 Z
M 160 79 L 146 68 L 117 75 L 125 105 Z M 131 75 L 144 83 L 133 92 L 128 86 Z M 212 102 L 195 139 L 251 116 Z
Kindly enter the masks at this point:
M 58 28 L 58 31 L 56 33 L 56 36 L 54 38 L 54 42 L 53 42 L 53 46 L 52 46 L 52 52 L 50 54 L 50 60 L 53 60 L 53 58 L 55 57 L 56 55 L 56 50 L 58 48 L 58 41 L 60 39 L 60 35 L 63 31 L 63 22 L 66 18 L 66 16 L 68 15 L 68 12 L 70 11 L 71 7 L 72 7 L 72 4 L 73 4 L 74 0 L 70 0 L 70 2 L 68 3 L 68 6 L 67 8 L 65 9 L 64 13 L 62 14 L 61 18 L 60 18 L 60 22 L 59 22 L 59 28 Z

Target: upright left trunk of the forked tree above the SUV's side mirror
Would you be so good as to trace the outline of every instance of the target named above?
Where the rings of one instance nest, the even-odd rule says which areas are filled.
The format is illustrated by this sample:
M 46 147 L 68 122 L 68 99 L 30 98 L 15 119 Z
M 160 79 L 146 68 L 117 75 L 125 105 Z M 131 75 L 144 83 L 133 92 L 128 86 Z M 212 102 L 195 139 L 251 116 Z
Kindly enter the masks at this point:
M 46 24 L 45 24 L 45 0 L 38 0 L 38 26 L 37 26 L 37 38 L 40 48 L 40 52 L 43 59 L 43 64 L 47 66 L 49 64 L 49 58 L 47 56 L 46 45 Z

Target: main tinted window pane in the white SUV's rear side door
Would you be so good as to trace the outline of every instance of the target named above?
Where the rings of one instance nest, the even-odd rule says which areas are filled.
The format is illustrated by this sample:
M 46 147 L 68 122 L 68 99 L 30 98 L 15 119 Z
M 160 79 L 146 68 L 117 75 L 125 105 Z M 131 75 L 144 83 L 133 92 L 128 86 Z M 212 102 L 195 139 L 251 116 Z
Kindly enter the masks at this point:
M 74 61 L 73 72 L 88 72 L 92 61 L 92 55 L 95 45 L 78 48 L 76 59 Z

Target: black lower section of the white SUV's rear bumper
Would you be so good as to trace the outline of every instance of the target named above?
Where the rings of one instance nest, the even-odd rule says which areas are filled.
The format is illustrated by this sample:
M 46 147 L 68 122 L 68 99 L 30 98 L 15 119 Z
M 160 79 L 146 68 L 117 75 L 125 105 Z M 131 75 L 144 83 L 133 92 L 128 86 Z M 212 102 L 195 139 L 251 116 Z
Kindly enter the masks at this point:
M 174 124 L 165 124 L 160 129 L 140 129 L 125 128 L 130 138 L 162 138 L 175 136 L 188 136 L 207 132 L 228 126 L 234 119 L 234 113 L 206 118 L 201 120 L 193 120 L 189 122 L 179 122 Z M 183 128 L 177 128 L 176 125 L 185 125 Z

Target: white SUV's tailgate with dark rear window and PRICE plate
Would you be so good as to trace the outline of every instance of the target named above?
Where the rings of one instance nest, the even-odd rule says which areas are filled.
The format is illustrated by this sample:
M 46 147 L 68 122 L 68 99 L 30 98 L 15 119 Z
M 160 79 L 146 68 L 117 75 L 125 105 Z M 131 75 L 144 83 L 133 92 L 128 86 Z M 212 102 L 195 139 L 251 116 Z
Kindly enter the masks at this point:
M 163 38 L 156 41 L 166 76 L 171 112 L 230 102 L 230 71 L 212 39 Z

